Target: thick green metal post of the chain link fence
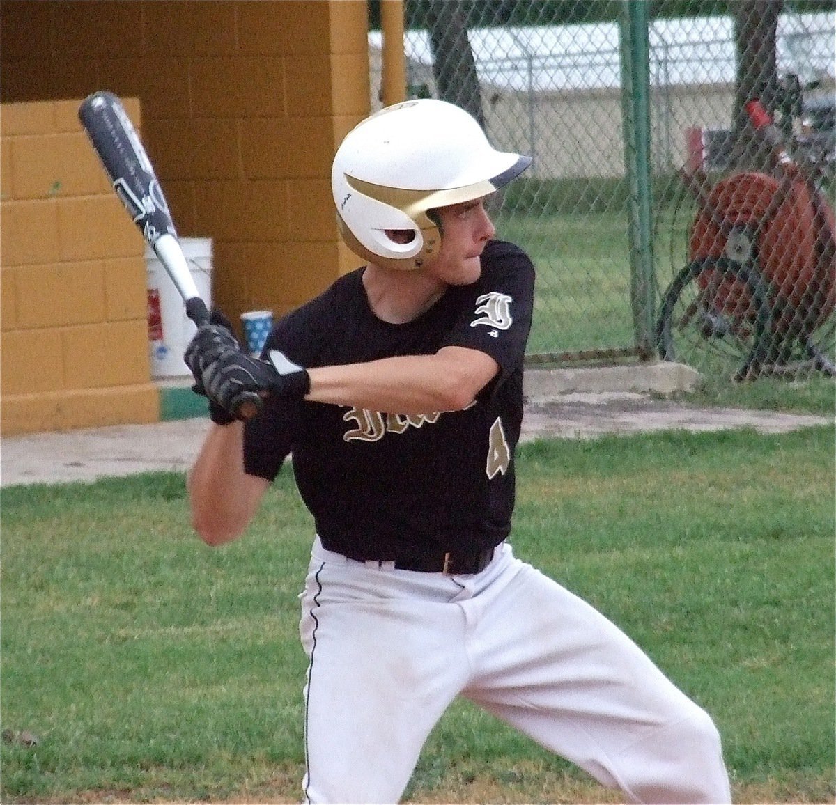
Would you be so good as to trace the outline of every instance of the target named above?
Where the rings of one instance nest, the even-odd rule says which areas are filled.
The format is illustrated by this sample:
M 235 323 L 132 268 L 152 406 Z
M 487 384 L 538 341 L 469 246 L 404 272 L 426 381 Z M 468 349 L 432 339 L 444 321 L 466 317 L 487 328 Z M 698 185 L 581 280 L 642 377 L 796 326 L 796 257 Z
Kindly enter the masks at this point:
M 648 0 L 622 0 L 621 105 L 624 166 L 630 182 L 630 304 L 635 345 L 645 358 L 655 356 L 655 283 L 653 278 L 653 201 L 650 186 L 650 44 Z

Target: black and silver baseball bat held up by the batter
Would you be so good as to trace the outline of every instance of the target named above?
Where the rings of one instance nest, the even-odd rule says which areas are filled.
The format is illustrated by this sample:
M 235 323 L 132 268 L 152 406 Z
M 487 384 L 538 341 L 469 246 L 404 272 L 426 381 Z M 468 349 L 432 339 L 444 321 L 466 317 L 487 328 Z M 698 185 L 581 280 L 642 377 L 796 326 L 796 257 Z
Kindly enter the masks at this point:
M 206 324 L 209 311 L 177 239 L 166 195 L 122 102 L 113 93 L 94 92 L 79 106 L 79 120 L 116 195 L 180 293 L 186 315 L 198 327 Z M 257 415 L 262 405 L 262 398 L 254 391 L 244 391 L 233 400 L 230 413 L 247 420 Z

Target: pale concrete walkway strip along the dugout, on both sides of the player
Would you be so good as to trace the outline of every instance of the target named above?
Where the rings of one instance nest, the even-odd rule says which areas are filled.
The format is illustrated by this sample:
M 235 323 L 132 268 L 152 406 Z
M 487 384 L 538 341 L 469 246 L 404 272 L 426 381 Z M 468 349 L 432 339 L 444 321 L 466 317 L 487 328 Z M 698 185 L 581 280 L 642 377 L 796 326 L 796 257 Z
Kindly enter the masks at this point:
M 669 368 L 670 367 L 670 368 Z M 526 373 L 523 441 L 540 436 L 594 438 L 605 433 L 751 427 L 763 433 L 833 423 L 832 417 L 775 411 L 698 408 L 660 399 L 693 377 L 676 364 Z M 113 425 L 65 433 L 7 436 L 0 443 L 0 483 L 94 481 L 154 470 L 185 471 L 209 420 Z

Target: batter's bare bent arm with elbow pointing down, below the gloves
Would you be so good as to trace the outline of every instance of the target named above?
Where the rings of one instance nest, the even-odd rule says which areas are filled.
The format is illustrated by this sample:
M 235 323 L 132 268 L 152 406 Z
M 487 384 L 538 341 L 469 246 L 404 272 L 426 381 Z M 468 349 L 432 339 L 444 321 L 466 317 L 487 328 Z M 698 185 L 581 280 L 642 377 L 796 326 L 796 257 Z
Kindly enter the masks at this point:
M 209 545 L 240 537 L 267 481 L 247 476 L 243 466 L 243 425 L 212 425 L 186 479 L 191 524 Z

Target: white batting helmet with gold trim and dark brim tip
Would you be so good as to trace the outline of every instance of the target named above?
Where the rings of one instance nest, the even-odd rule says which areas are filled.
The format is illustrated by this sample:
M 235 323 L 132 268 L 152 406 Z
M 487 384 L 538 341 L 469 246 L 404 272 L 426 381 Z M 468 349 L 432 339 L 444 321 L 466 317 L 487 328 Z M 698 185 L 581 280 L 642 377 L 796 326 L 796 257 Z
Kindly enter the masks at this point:
M 340 231 L 359 257 L 409 271 L 438 253 L 427 211 L 497 191 L 531 164 L 497 151 L 465 110 L 442 100 L 387 106 L 349 131 L 334 156 L 331 190 Z M 387 230 L 408 230 L 410 242 Z

